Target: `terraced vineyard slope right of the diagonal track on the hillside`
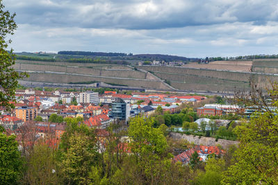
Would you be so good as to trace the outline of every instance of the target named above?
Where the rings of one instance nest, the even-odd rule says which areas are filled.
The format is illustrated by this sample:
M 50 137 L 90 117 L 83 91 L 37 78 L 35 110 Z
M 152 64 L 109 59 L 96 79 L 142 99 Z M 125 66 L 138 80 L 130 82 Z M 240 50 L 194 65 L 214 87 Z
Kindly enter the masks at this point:
M 246 91 L 250 83 L 259 87 L 270 87 L 269 82 L 278 81 L 275 74 L 193 69 L 187 67 L 142 66 L 139 69 L 151 71 L 155 76 L 170 82 L 174 88 L 190 91 L 229 92 Z

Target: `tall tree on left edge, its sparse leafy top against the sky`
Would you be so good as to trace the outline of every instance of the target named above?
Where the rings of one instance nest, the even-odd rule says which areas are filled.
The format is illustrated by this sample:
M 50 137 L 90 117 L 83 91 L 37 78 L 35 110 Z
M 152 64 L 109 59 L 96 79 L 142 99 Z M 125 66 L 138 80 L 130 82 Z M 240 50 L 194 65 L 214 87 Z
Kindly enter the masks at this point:
M 8 35 L 13 35 L 17 25 L 15 24 L 15 14 L 3 10 L 4 6 L 0 1 L 0 106 L 5 106 L 7 110 L 14 108 L 11 101 L 15 101 L 15 89 L 17 88 L 18 79 L 26 78 L 27 73 L 18 73 L 15 71 L 15 55 L 13 49 L 8 49 L 8 44 L 12 41 L 6 41 Z

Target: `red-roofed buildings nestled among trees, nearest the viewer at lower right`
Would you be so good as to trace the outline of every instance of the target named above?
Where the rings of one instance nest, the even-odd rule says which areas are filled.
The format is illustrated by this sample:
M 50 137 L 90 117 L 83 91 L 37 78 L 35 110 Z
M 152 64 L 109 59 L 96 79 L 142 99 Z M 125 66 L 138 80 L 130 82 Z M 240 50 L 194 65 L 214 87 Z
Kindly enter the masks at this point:
M 173 158 L 173 161 L 180 161 L 183 164 L 188 164 L 190 161 L 190 157 L 193 155 L 194 152 L 197 152 L 200 161 L 206 161 L 208 155 L 220 156 L 224 154 L 224 150 L 220 150 L 220 148 L 218 148 L 217 146 L 195 146 L 194 148 L 190 148 L 185 152 L 176 155 Z

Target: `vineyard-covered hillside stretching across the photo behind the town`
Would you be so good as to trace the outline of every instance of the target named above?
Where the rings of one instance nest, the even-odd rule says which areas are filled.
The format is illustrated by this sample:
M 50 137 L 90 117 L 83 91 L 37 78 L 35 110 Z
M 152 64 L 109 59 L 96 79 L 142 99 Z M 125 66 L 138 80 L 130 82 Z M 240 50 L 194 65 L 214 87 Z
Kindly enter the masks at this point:
M 106 82 L 146 89 L 222 94 L 249 90 L 251 82 L 265 88 L 269 81 L 278 81 L 275 74 L 278 60 L 217 61 L 183 67 L 17 60 L 13 67 L 28 71 L 30 77 L 25 80 L 33 82 Z

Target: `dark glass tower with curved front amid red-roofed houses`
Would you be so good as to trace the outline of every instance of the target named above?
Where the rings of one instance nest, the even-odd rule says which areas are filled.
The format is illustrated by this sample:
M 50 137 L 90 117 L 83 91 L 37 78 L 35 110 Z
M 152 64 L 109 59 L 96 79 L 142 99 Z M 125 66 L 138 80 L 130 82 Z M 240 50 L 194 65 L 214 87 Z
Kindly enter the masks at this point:
M 126 120 L 126 103 L 121 98 L 116 98 L 112 103 L 112 116 L 120 120 Z

